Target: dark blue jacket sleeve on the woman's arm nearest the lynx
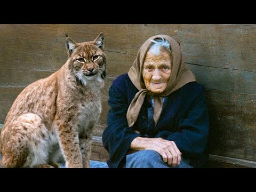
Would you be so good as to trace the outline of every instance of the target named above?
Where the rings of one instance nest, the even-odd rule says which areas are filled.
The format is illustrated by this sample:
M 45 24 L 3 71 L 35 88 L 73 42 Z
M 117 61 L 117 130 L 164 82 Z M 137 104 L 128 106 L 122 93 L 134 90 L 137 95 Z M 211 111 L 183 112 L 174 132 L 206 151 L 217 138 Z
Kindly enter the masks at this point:
M 109 153 L 110 165 L 118 167 L 130 148 L 134 138 L 140 136 L 129 128 L 126 113 L 129 107 L 127 89 L 120 83 L 113 83 L 109 89 L 107 127 L 102 134 L 103 146 Z M 119 165 L 121 166 L 121 165 Z

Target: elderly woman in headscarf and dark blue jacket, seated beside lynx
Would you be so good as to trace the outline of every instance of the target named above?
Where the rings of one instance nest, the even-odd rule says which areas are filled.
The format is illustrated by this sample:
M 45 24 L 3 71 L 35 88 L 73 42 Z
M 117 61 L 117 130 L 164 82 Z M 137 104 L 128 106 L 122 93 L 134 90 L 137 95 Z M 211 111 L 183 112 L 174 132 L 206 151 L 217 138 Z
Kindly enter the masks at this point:
M 102 141 L 109 167 L 205 166 L 204 87 L 183 63 L 172 37 L 147 39 L 129 72 L 111 85 L 108 105 Z

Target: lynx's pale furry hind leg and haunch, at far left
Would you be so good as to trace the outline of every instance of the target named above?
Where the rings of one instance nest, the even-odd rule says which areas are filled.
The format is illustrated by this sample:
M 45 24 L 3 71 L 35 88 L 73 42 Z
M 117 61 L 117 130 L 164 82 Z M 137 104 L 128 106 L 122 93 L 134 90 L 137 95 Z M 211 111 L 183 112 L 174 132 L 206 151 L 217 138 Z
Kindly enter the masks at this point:
M 46 164 L 49 131 L 42 119 L 32 113 L 22 114 L 2 132 L 2 167 L 34 167 Z

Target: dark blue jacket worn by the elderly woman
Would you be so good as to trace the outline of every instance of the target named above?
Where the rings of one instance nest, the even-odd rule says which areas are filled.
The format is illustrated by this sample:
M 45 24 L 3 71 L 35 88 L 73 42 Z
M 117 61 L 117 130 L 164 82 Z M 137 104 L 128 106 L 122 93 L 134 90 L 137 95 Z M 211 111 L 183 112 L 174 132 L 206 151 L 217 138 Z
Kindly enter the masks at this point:
M 127 124 L 127 109 L 139 90 L 127 74 L 115 79 L 109 89 L 107 127 L 102 134 L 103 146 L 109 153 L 109 167 L 123 167 L 131 142 L 136 137 L 163 138 L 174 141 L 182 156 L 195 167 L 206 165 L 209 115 L 204 98 L 204 86 L 190 82 L 171 93 L 157 125 L 147 122 L 150 107 L 145 99 L 137 121 Z M 140 134 L 133 130 L 138 130 Z

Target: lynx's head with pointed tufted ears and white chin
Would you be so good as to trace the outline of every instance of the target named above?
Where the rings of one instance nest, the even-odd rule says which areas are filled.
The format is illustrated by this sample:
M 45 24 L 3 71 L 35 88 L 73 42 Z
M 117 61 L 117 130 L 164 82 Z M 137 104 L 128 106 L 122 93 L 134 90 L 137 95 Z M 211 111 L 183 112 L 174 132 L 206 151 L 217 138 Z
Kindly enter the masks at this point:
M 75 43 L 66 39 L 69 55 L 69 70 L 83 84 L 101 82 L 106 77 L 106 55 L 103 53 L 103 34 L 93 42 Z

